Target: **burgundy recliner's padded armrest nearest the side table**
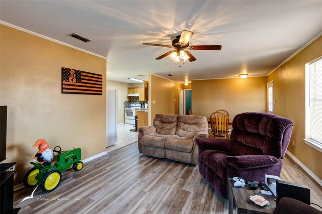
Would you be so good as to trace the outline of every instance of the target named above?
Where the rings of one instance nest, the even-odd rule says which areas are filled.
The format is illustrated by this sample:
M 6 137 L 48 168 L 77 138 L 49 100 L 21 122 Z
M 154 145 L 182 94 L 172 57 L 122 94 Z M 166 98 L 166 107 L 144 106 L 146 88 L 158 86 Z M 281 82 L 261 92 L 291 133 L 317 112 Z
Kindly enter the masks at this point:
M 272 155 L 228 156 L 222 161 L 224 167 L 227 167 L 229 164 L 238 170 L 273 166 L 277 163 L 279 163 L 279 159 Z

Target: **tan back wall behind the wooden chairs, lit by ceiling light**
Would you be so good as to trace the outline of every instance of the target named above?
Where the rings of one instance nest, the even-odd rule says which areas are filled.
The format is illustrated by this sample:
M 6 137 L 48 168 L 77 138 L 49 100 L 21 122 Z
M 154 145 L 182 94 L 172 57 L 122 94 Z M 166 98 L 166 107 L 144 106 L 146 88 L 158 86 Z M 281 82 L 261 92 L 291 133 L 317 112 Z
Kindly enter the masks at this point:
M 267 78 L 192 81 L 192 112 L 209 118 L 216 110 L 229 113 L 229 121 L 241 112 L 266 112 Z

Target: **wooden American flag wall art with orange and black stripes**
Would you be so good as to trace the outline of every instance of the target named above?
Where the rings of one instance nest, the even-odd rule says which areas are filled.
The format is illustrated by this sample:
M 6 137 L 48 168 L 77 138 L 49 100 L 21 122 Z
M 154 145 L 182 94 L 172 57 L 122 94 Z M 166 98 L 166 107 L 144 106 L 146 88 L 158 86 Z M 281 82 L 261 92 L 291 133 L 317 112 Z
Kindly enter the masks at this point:
M 71 68 L 61 68 L 61 92 L 102 95 L 102 75 Z

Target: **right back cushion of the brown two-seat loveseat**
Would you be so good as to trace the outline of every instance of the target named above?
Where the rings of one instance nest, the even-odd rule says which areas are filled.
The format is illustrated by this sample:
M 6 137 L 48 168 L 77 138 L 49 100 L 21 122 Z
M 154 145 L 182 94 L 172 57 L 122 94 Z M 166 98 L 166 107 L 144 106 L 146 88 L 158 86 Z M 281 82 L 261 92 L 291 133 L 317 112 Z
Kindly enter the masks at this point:
M 199 132 L 208 132 L 208 120 L 204 116 L 180 115 L 176 135 L 194 138 Z

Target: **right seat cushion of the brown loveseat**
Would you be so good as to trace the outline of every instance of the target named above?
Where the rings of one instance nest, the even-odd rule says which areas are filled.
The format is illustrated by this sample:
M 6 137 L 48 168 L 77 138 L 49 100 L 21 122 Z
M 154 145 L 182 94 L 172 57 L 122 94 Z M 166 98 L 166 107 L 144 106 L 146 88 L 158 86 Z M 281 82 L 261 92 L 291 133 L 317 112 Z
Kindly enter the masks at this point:
M 171 135 L 165 141 L 165 148 L 180 152 L 192 152 L 193 139 Z

